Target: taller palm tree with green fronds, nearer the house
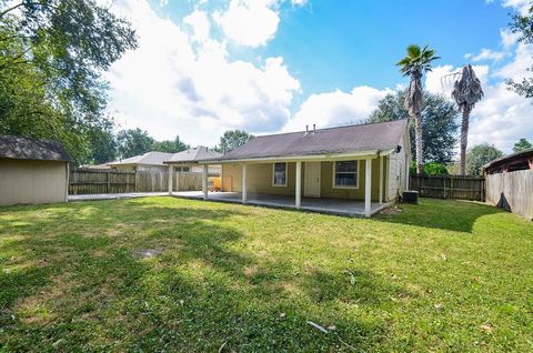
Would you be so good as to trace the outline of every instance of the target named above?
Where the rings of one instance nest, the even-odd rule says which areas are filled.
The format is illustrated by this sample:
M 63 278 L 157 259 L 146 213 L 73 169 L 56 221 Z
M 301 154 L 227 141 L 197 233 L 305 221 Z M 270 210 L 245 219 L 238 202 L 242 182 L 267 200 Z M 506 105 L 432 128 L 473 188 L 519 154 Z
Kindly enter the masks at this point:
M 440 59 L 440 57 L 435 56 L 434 50 L 428 49 L 428 46 L 421 49 L 419 46 L 412 44 L 408 47 L 408 56 L 396 63 L 403 75 L 411 77 L 404 107 L 414 120 L 418 174 L 422 174 L 424 171 L 424 145 L 422 141 L 422 75 L 425 72 L 431 71 L 431 62 L 436 59 Z

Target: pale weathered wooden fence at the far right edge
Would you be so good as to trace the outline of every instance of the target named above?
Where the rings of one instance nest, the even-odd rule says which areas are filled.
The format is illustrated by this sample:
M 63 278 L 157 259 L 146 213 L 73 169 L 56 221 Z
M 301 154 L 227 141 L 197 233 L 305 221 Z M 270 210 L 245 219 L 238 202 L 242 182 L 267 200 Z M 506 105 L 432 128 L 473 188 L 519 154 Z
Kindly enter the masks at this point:
M 533 170 L 486 175 L 486 202 L 533 219 Z

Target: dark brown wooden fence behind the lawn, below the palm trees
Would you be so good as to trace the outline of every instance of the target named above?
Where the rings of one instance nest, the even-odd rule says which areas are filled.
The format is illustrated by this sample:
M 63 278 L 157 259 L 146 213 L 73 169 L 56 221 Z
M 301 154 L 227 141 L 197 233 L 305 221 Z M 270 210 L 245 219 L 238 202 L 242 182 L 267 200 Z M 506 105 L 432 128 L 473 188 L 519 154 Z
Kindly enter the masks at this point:
M 484 201 L 485 180 L 462 175 L 411 175 L 409 189 L 423 198 Z

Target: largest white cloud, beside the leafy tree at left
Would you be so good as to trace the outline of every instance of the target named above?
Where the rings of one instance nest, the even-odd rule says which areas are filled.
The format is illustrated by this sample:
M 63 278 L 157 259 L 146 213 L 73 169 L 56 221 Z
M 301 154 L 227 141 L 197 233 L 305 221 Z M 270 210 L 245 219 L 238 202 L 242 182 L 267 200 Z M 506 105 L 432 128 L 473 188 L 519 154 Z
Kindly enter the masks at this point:
M 289 119 L 300 82 L 282 58 L 259 64 L 231 60 L 225 44 L 209 37 L 209 21 L 198 10 L 182 29 L 145 0 L 122 0 L 113 9 L 130 18 L 139 34 L 139 49 L 108 73 L 110 108 L 124 128 L 210 145 L 227 129 L 276 131 Z

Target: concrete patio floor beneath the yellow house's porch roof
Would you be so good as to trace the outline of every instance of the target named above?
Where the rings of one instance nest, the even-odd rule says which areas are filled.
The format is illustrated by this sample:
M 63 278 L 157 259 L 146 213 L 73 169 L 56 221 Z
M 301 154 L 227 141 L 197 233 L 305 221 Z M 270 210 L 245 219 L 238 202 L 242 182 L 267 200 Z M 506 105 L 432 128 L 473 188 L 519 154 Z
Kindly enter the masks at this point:
M 242 193 L 240 192 L 208 192 L 208 198 L 205 199 L 205 194 L 203 191 L 174 191 L 172 193 L 172 196 L 181 199 L 251 204 L 279 209 L 299 209 L 310 212 L 348 216 L 365 216 L 364 201 L 356 200 L 301 198 L 300 206 L 296 208 L 294 196 L 288 195 L 252 193 L 248 194 L 247 201 L 242 201 Z M 380 204 L 379 202 L 372 202 L 371 214 L 378 213 L 389 205 L 389 203 Z

